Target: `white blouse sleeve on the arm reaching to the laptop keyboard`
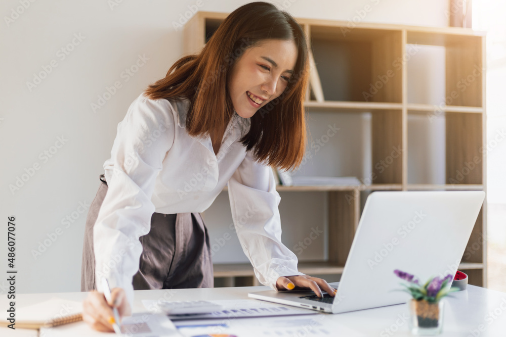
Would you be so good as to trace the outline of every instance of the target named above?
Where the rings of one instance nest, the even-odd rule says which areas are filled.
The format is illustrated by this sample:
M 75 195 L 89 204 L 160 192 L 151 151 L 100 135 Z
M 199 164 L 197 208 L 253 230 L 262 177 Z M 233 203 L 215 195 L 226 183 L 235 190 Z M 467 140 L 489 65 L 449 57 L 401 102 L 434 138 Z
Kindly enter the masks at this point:
M 237 236 L 259 281 L 277 291 L 278 277 L 303 275 L 297 256 L 281 243 L 281 197 L 271 167 L 248 151 L 228 181 L 228 194 Z

